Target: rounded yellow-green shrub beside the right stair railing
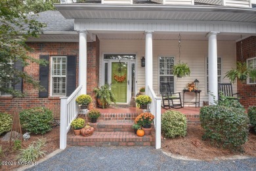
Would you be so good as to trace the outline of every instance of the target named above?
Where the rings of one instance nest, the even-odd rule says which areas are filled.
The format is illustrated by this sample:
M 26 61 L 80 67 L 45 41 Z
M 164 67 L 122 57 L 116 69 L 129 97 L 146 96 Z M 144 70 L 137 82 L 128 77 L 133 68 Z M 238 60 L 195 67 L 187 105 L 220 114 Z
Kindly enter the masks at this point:
M 161 128 L 167 138 L 186 136 L 186 116 L 179 111 L 165 111 L 161 115 Z

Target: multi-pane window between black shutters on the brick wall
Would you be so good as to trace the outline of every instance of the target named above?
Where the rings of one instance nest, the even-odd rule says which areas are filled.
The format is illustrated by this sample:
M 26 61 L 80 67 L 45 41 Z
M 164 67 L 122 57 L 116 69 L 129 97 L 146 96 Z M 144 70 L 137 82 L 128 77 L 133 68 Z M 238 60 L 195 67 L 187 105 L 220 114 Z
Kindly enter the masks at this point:
M 66 96 L 66 56 L 51 58 L 52 96 Z

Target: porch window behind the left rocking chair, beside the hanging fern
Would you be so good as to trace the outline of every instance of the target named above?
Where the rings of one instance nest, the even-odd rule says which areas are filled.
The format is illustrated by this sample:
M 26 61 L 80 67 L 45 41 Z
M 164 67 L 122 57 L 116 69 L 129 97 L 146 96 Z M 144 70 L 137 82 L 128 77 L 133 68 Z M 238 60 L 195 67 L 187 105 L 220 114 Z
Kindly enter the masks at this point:
M 173 65 L 174 57 L 159 57 L 160 85 L 161 83 L 169 82 L 171 84 L 171 92 L 174 92 Z

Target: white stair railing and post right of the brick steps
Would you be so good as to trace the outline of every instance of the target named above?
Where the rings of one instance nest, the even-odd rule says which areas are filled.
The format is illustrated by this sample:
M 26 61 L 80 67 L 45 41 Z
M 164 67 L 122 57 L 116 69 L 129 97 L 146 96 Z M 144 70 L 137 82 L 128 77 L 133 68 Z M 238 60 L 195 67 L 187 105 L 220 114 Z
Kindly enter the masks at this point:
M 161 148 L 161 98 L 156 96 L 153 88 L 148 86 L 148 96 L 152 98 L 150 112 L 155 116 L 154 124 L 156 130 L 156 149 Z

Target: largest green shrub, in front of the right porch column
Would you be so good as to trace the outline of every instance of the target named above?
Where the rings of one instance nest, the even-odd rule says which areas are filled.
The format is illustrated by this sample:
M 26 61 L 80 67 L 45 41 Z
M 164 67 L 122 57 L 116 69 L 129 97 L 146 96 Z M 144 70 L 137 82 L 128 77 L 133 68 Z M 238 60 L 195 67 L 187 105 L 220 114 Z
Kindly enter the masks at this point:
M 200 109 L 201 126 L 204 129 L 203 140 L 211 140 L 218 147 L 237 151 L 247 141 L 247 115 L 244 109 L 209 105 Z

